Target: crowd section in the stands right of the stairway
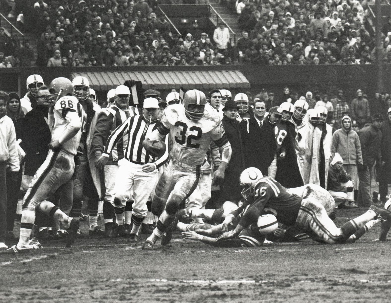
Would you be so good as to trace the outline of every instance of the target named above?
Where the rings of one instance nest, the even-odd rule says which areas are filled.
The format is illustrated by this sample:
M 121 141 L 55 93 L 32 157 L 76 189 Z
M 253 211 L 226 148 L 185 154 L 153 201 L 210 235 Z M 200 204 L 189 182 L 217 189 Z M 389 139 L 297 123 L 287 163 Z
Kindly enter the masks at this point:
M 243 37 L 238 61 L 247 64 L 370 64 L 375 37 L 365 27 L 374 1 L 228 1 Z M 382 28 L 384 63 L 391 62 L 391 18 Z

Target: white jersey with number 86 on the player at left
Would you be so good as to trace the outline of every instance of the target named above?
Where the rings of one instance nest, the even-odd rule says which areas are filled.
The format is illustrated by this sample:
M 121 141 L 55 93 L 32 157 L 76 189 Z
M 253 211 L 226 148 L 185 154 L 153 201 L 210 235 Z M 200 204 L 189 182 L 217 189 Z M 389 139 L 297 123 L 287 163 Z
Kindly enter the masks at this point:
M 66 127 L 71 121 L 69 113 L 77 113 L 81 119 L 82 127 L 73 138 L 69 139 L 61 145 L 61 149 L 65 152 L 71 153 L 72 155 L 76 155 L 76 151 L 80 143 L 81 133 L 86 123 L 86 113 L 84 112 L 83 106 L 81 106 L 79 100 L 77 100 L 76 97 L 61 97 L 54 105 L 54 127 L 52 132 L 52 140 L 59 140 L 67 131 Z

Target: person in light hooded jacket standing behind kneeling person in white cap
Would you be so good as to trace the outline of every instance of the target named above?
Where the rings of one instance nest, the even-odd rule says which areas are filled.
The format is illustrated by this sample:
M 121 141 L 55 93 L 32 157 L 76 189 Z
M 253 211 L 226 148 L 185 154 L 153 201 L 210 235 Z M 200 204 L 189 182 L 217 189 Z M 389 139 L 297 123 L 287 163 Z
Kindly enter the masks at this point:
M 352 119 L 343 116 L 341 128 L 333 134 L 331 154 L 338 153 L 343 159 L 344 170 L 352 177 L 356 190 L 358 189 L 357 167 L 362 169 L 362 153 L 359 135 L 352 130 Z M 357 193 L 356 193 L 357 194 Z M 348 206 L 348 204 L 346 204 Z M 350 203 L 349 206 L 356 206 Z

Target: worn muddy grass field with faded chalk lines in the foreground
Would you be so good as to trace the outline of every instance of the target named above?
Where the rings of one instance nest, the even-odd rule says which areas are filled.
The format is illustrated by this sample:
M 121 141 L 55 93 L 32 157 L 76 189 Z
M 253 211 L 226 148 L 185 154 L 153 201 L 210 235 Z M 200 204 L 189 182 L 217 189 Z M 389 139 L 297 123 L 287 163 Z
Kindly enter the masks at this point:
M 337 226 L 364 211 L 337 210 Z M 344 245 L 213 248 L 179 233 L 154 251 L 141 250 L 146 236 L 47 241 L 0 255 L 0 302 L 389 302 L 391 242 L 372 241 L 379 228 Z

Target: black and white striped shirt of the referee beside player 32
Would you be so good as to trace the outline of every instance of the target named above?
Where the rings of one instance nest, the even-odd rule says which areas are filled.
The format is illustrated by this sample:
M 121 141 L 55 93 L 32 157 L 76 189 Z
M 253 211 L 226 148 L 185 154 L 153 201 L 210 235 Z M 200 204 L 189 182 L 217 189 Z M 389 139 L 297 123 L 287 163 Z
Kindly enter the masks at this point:
M 150 122 L 145 119 L 143 115 L 126 119 L 126 121 L 117 127 L 110 135 L 102 155 L 109 157 L 111 150 L 117 144 L 118 140 L 127 135 L 127 144 L 124 149 L 125 159 L 135 164 L 154 163 L 156 168 L 159 168 L 169 160 L 168 136 L 165 137 L 166 151 L 160 158 L 150 155 L 145 148 L 143 148 L 142 144 L 145 137 L 158 127 L 159 121 L 160 120 L 158 119 Z

